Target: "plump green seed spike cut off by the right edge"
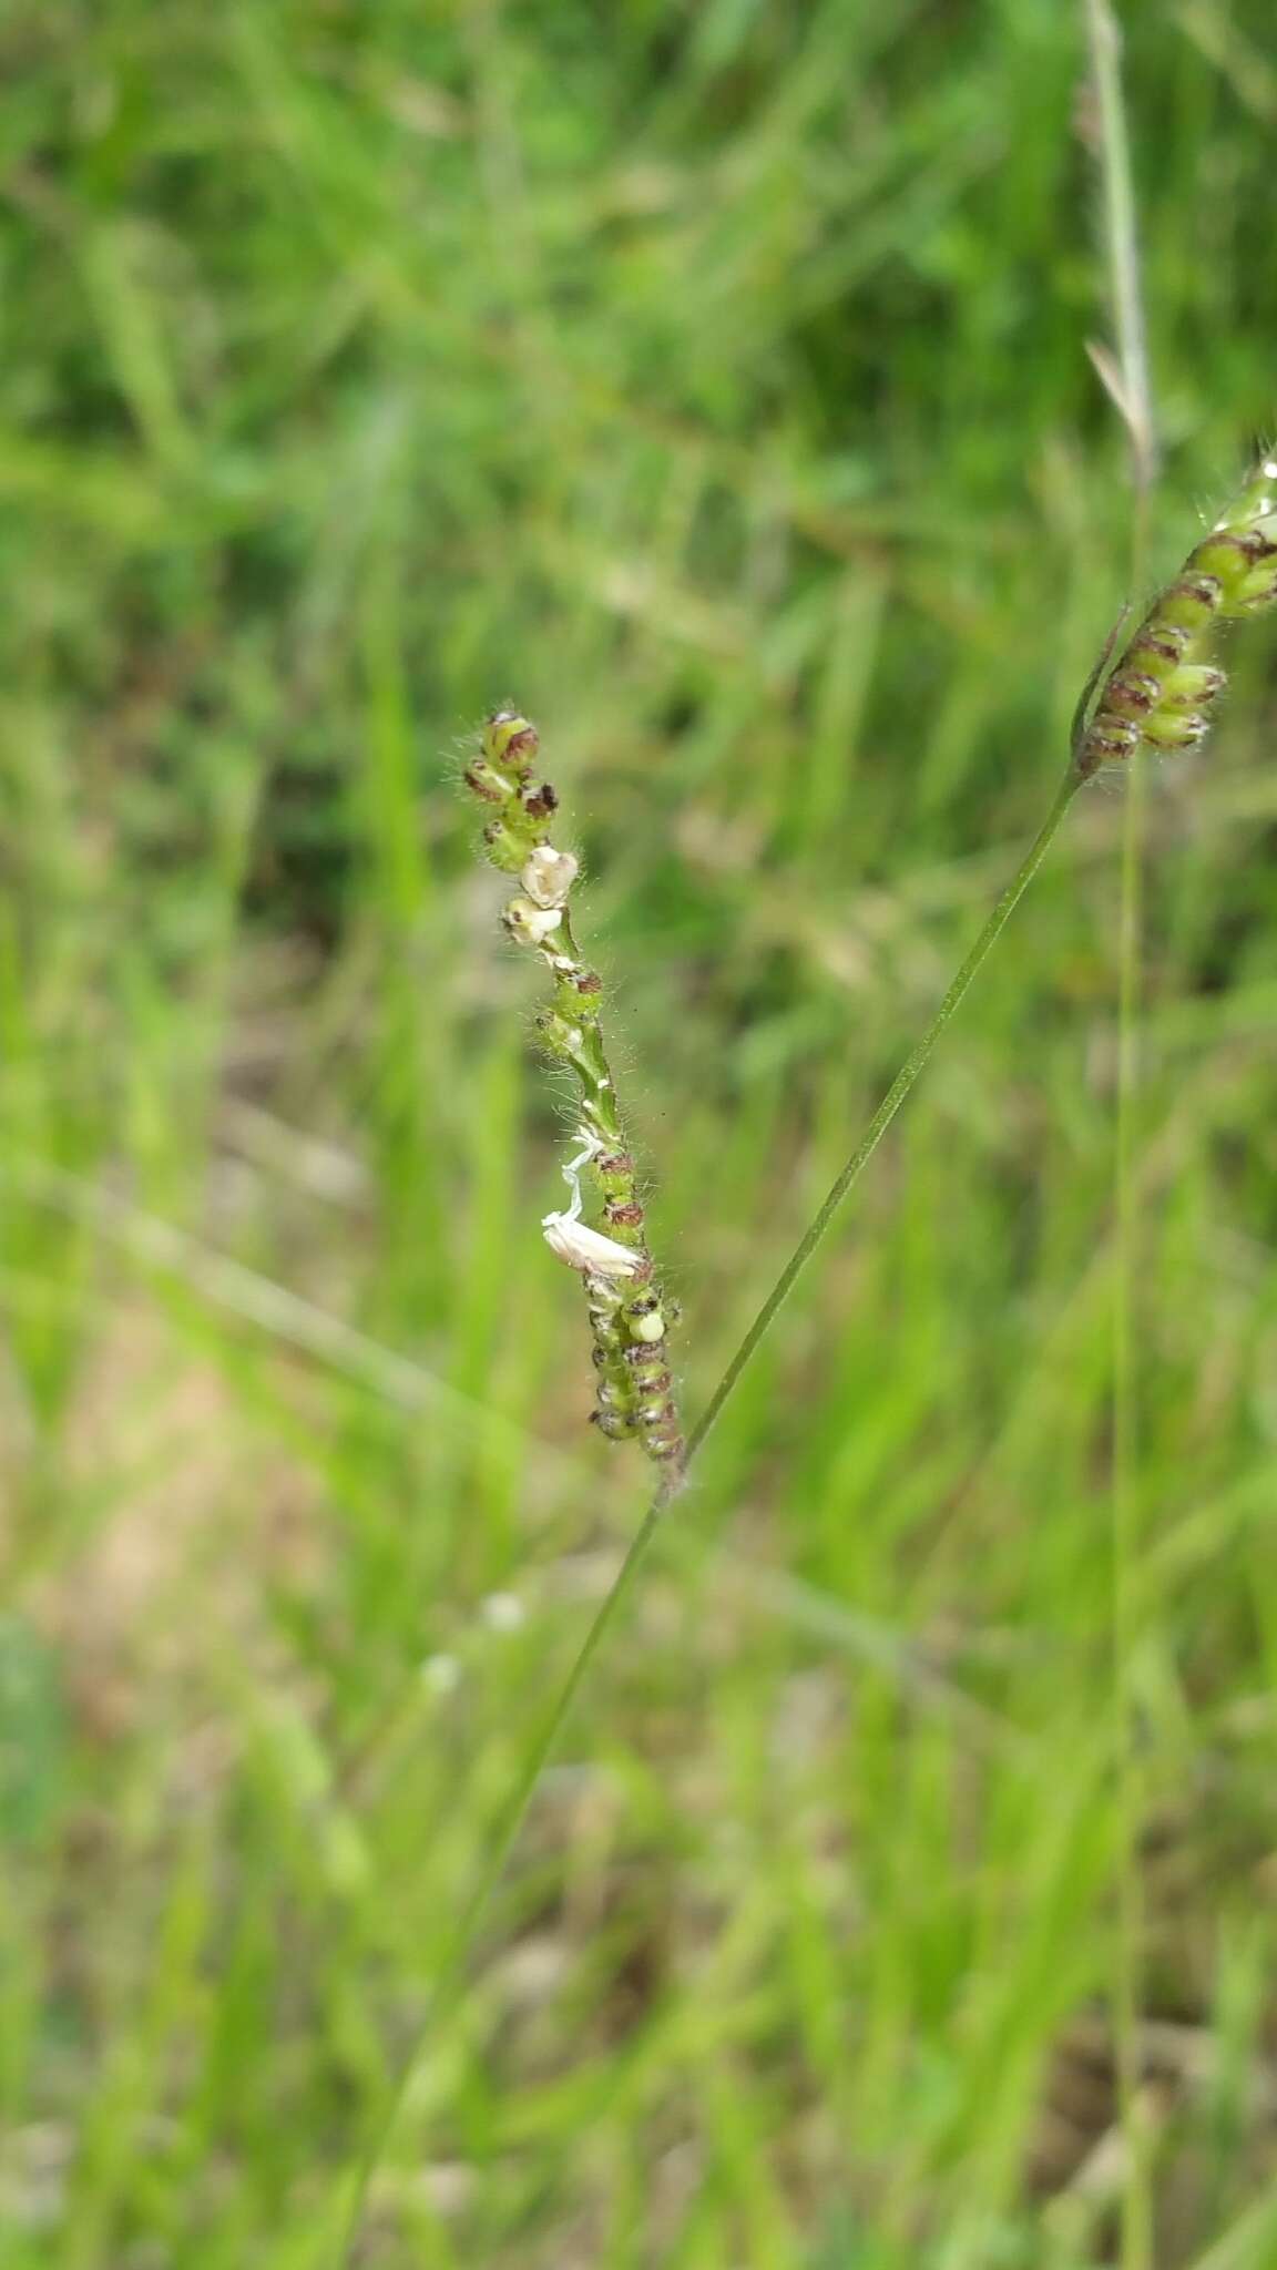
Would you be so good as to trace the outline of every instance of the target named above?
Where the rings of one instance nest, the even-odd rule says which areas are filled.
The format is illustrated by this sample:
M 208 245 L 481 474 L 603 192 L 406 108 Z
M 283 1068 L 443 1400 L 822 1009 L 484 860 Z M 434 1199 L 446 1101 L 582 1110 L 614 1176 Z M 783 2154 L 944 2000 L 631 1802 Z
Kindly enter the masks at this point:
M 1277 461 L 1263 459 L 1102 676 L 1072 742 L 1082 779 L 1141 747 L 1195 749 L 1227 683 L 1211 661 L 1218 627 L 1275 599 Z

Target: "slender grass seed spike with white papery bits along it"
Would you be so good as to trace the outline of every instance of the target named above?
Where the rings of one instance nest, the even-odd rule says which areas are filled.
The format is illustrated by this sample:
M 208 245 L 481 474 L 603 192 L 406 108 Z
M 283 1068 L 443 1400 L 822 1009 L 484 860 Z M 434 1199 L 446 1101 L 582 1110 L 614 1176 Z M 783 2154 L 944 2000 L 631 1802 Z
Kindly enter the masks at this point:
M 602 978 L 586 969 L 573 938 L 568 897 L 577 860 L 550 842 L 559 806 L 550 781 L 532 781 L 539 735 L 527 717 L 489 717 L 466 788 L 489 806 L 484 854 L 518 892 L 502 922 L 520 947 L 541 953 L 554 978 L 554 1003 L 536 1019 L 548 1056 L 566 1065 L 582 1090 L 579 1149 L 564 1167 L 570 1203 L 541 1224 L 550 1251 L 575 1269 L 586 1292 L 595 1362 L 593 1423 L 611 1441 L 636 1439 L 673 1489 L 684 1466 L 684 1437 L 666 1351 L 666 1305 L 654 1287 L 643 1201 L 625 1144 L 602 1026 Z M 602 1224 L 584 1221 L 582 1169 L 591 1169 Z

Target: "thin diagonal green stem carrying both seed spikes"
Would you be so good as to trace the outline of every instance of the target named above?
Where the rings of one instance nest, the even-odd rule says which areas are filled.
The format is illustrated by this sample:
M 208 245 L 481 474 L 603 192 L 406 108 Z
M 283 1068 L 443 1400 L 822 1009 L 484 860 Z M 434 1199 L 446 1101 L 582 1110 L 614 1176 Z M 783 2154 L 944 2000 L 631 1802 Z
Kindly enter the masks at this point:
M 1054 804 L 1052 804 L 1052 808 L 1050 808 L 1043 826 L 1038 829 L 1038 833 L 1036 833 L 1034 842 L 1029 844 L 1025 858 L 1020 860 L 1016 874 L 1011 876 L 1011 881 L 1007 883 L 1007 888 L 1000 894 L 998 903 L 993 906 L 993 910 L 991 910 L 984 928 L 979 931 L 979 938 L 975 940 L 970 953 L 961 962 L 961 967 L 959 967 L 959 972 L 957 972 L 957 976 L 954 976 L 954 981 L 952 981 L 945 999 L 941 1001 L 941 1006 L 938 1006 L 932 1024 L 927 1026 L 927 1031 L 923 1033 L 920 1042 L 916 1044 L 916 1049 L 911 1049 L 909 1058 L 904 1060 L 904 1065 L 895 1074 L 895 1078 L 893 1078 L 891 1087 L 886 1090 L 882 1103 L 877 1105 L 877 1110 L 875 1110 L 875 1115 L 873 1115 L 873 1119 L 870 1119 L 870 1124 L 868 1124 L 861 1142 L 857 1144 L 857 1149 L 848 1158 L 848 1165 L 843 1167 L 843 1171 L 834 1180 L 834 1185 L 832 1185 L 829 1194 L 825 1196 L 825 1203 L 816 1212 L 811 1226 L 800 1237 L 795 1251 L 791 1253 L 791 1258 L 784 1264 L 779 1278 L 775 1280 L 775 1285 L 768 1292 L 763 1305 L 759 1308 L 754 1321 L 750 1323 L 750 1330 L 745 1332 L 741 1346 L 732 1355 L 732 1360 L 729 1360 L 723 1378 L 718 1380 L 718 1387 L 713 1389 L 709 1403 L 704 1405 L 704 1412 L 700 1414 L 700 1421 L 698 1421 L 698 1426 L 693 1428 L 693 1432 L 688 1437 L 688 1453 L 686 1453 L 688 1462 L 702 1448 L 709 1430 L 716 1426 L 716 1421 L 718 1421 L 718 1416 L 723 1412 L 723 1405 L 727 1403 L 727 1396 L 734 1392 L 741 1373 L 745 1371 L 745 1364 L 750 1362 L 754 1348 L 759 1346 L 759 1342 L 763 1339 L 763 1335 L 770 1330 L 770 1326 L 773 1326 L 773 1321 L 775 1321 L 782 1303 L 793 1292 L 793 1285 L 798 1283 L 802 1269 L 807 1267 L 807 1262 L 816 1253 L 818 1244 L 823 1242 L 825 1233 L 829 1230 L 829 1224 L 834 1221 L 834 1214 L 843 1205 L 843 1199 L 850 1194 L 852 1185 L 861 1178 L 863 1169 L 868 1167 L 873 1153 L 877 1151 L 882 1137 L 886 1135 L 886 1130 L 888 1130 L 891 1121 L 895 1119 L 895 1112 L 904 1103 L 909 1090 L 916 1085 L 916 1081 L 925 1071 L 925 1067 L 927 1067 L 927 1062 L 929 1062 L 929 1058 L 932 1058 L 932 1053 L 936 1049 L 936 1042 L 941 1040 L 941 1035 L 945 1033 L 948 1024 L 957 1015 L 957 1010 L 959 1010 L 959 1006 L 961 1006 L 968 987 L 973 985 L 975 976 L 979 974 L 979 969 L 988 960 L 993 947 L 998 944 L 998 938 L 1007 928 L 1007 922 L 1016 913 L 1016 906 L 1025 897 L 1025 892 L 1027 892 L 1029 883 L 1034 881 L 1041 863 L 1045 860 L 1045 856 L 1050 851 L 1050 844 L 1054 842 L 1054 835 L 1059 833 L 1063 815 L 1066 815 L 1068 806 L 1072 804 L 1079 785 L 1082 785 L 1082 774 L 1077 772 L 1077 765 L 1070 760 L 1068 772 L 1063 776 L 1063 783 L 1059 788 L 1059 794 L 1057 794 L 1057 799 L 1054 799 Z M 648 1512 L 643 1516 L 643 1523 L 634 1532 L 629 1550 L 625 1553 L 625 1559 L 623 1559 L 623 1564 L 620 1564 L 620 1569 L 618 1569 L 618 1573 L 616 1573 L 616 1578 L 614 1578 L 607 1596 L 602 1598 L 600 1607 L 595 1609 L 595 1616 L 593 1616 L 593 1621 L 591 1621 L 591 1625 L 589 1625 L 589 1630 L 586 1630 L 586 1634 L 582 1639 L 582 1646 L 579 1646 L 579 1650 L 577 1650 L 577 1655 L 573 1659 L 573 1668 L 568 1671 L 568 1678 L 566 1678 L 561 1691 L 554 1696 L 554 1702 L 550 1705 L 550 1709 L 548 1709 L 548 1714 L 545 1714 L 545 1718 L 543 1718 L 536 1737 L 527 1746 L 527 1752 L 525 1752 L 525 1757 L 520 1762 L 516 1784 L 509 1791 L 509 1798 L 507 1798 L 507 1802 L 502 1807 L 502 1814 L 500 1814 L 495 1832 L 493 1832 L 493 1841 L 491 1841 L 491 1848 L 489 1848 L 489 1857 L 486 1857 L 486 1864 L 484 1864 L 482 1880 L 477 1884 L 477 1891 L 475 1891 L 470 1905 L 466 1907 L 466 1914 L 464 1914 L 461 1923 L 457 1925 L 454 1939 L 452 1939 L 452 1943 L 448 1948 L 448 1954 L 443 1959 L 443 1968 L 441 1968 L 441 1975 L 439 1975 L 439 1984 L 436 1984 L 434 2004 L 429 2009 L 429 2016 L 427 2016 L 427 2020 L 425 2020 L 425 2025 L 423 2025 L 416 2043 L 411 2045 L 411 2050 L 409 2050 L 409 2054 L 407 2054 L 407 2059 L 404 2059 L 398 2077 L 391 2084 L 391 2091 L 389 2091 L 382 2118 L 377 2120 L 377 2127 L 375 2127 L 373 2136 L 368 2138 L 368 2145 L 366 2145 L 366 2150 L 361 2154 L 361 2161 L 359 2161 L 359 2168 L 354 2172 L 350 2213 L 348 2213 L 345 2236 L 343 2236 L 343 2247 L 341 2247 L 341 2261 L 343 2263 L 350 2263 L 354 2259 L 354 2245 L 357 2245 L 359 2227 L 361 2227 L 361 2220 L 364 2220 L 364 2206 L 366 2206 L 366 2200 L 368 2200 L 368 2186 L 370 2186 L 370 2181 L 373 2181 L 373 2177 L 375 2177 L 375 2172 L 377 2172 L 377 2168 L 382 2163 L 382 2156 L 384 2156 L 384 2152 L 386 2152 L 386 2147 L 389 2147 L 389 2143 L 393 2138 L 393 2132 L 395 2132 L 395 2125 L 398 2125 L 398 2118 L 400 2118 L 400 2109 L 402 2109 L 404 2097 L 409 2095 L 409 2091 L 414 2086 L 416 2073 L 423 2066 L 423 2059 L 427 2054 L 427 2045 L 434 2038 L 441 2018 L 454 2007 L 457 1995 L 459 1995 L 459 1991 L 464 1986 L 466 1961 L 468 1961 L 470 1950 L 475 1945 L 475 1939 L 477 1939 L 477 1932 L 479 1932 L 479 1923 L 482 1923 L 482 1918 L 484 1918 L 484 1914 L 489 1909 L 493 1891 L 495 1891 L 495 1886 L 498 1886 L 498 1882 L 500 1882 L 500 1877 L 504 1873 L 504 1864 L 507 1864 L 507 1859 L 509 1859 L 509 1855 L 514 1850 L 516 1836 L 518 1836 L 518 1832 L 523 1827 L 527 1807 L 532 1802 L 532 1793 L 534 1793 L 534 1789 L 536 1789 L 536 1784 L 541 1780 L 541 1773 L 545 1771 L 545 1764 L 554 1755 L 559 1737 L 561 1737 L 561 1732 L 564 1732 L 564 1727 L 566 1727 L 566 1723 L 568 1723 L 568 1718 L 573 1714 L 573 1707 L 577 1702 L 577 1696 L 579 1696 L 579 1691 L 584 1687 L 586 1673 L 589 1673 L 589 1668 L 591 1668 L 591 1664 L 593 1664 L 593 1659 L 595 1659 L 595 1655 L 598 1655 L 598 1650 L 600 1650 L 607 1632 L 616 1623 L 616 1619 L 618 1619 L 618 1614 L 620 1614 L 620 1609 L 623 1609 L 629 1591 L 634 1589 L 634 1580 L 636 1580 L 636 1575 L 638 1575 L 638 1571 L 641 1571 L 641 1566 L 643 1566 L 643 1562 L 645 1562 L 645 1557 L 648 1557 L 648 1553 L 652 1548 L 652 1541 L 654 1541 L 657 1530 L 661 1525 L 661 1514 L 666 1512 L 668 1503 L 670 1503 L 670 1491 L 668 1489 L 661 1489 L 654 1496 L 654 1500 L 650 1503 L 650 1507 L 648 1507 Z

